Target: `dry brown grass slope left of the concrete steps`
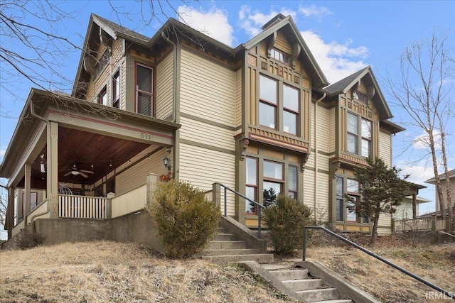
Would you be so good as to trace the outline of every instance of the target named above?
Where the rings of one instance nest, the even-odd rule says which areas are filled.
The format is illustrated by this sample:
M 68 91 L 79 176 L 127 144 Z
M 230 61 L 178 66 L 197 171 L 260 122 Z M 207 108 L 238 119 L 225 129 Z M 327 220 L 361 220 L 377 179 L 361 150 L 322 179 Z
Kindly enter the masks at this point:
M 287 301 L 234 265 L 169 260 L 133 243 L 6 250 L 0 262 L 0 302 Z

